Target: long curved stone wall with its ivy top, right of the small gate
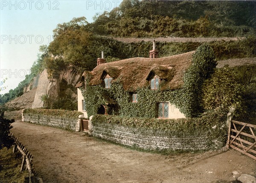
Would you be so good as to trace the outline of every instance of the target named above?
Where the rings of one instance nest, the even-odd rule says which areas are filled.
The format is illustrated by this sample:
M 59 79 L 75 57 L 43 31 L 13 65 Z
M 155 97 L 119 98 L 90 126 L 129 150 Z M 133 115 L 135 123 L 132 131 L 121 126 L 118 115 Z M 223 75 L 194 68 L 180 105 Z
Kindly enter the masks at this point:
M 209 150 L 225 145 L 226 114 L 221 108 L 198 118 L 154 119 L 96 114 L 92 135 L 128 146 L 154 150 Z

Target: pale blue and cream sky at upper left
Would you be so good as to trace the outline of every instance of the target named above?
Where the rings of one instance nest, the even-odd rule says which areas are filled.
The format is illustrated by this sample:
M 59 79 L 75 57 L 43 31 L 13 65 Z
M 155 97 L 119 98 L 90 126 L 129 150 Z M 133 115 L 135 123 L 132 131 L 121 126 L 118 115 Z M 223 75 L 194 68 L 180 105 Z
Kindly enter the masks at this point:
M 73 17 L 93 22 L 96 13 L 111 11 L 122 0 L 0 0 L 0 94 L 15 89 L 37 59 L 39 46 L 49 45 L 58 23 Z

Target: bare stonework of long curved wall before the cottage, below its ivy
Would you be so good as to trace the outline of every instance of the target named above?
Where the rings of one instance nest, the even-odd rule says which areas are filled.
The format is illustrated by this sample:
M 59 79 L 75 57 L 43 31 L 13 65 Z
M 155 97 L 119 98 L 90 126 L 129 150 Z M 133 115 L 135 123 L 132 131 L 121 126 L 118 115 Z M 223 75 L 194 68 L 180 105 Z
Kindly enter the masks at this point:
M 142 130 L 116 124 L 93 124 L 91 134 L 94 137 L 117 142 L 128 146 L 137 146 L 151 150 L 208 150 L 221 148 L 218 139 L 212 140 L 210 133 L 171 135 L 167 131 Z

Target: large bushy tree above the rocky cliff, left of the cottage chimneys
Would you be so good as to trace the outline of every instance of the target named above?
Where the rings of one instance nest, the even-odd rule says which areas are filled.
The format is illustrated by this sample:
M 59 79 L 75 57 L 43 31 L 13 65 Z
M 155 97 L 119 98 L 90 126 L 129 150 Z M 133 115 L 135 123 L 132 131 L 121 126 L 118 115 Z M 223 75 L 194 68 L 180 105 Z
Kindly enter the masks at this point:
M 58 24 L 54 32 L 54 40 L 49 44 L 48 50 L 58 63 L 73 65 L 84 70 L 92 70 L 95 65 L 93 52 L 93 34 L 87 31 L 85 17 L 74 18 L 68 23 Z M 46 62 L 50 65 L 55 59 L 49 55 Z M 56 61 L 57 63 L 57 61 Z M 57 67 L 57 66 L 56 66 Z

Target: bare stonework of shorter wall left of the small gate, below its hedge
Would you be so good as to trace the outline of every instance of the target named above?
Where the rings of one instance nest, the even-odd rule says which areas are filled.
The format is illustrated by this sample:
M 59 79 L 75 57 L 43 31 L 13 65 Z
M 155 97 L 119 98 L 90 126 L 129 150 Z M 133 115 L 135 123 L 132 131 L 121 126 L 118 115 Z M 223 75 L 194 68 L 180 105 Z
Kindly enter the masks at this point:
M 79 115 L 77 119 L 69 119 L 62 116 L 45 116 L 24 113 L 24 110 L 22 110 L 22 122 L 31 122 L 39 125 L 58 127 L 70 131 L 80 131 L 81 118 L 84 118 L 84 115 Z

